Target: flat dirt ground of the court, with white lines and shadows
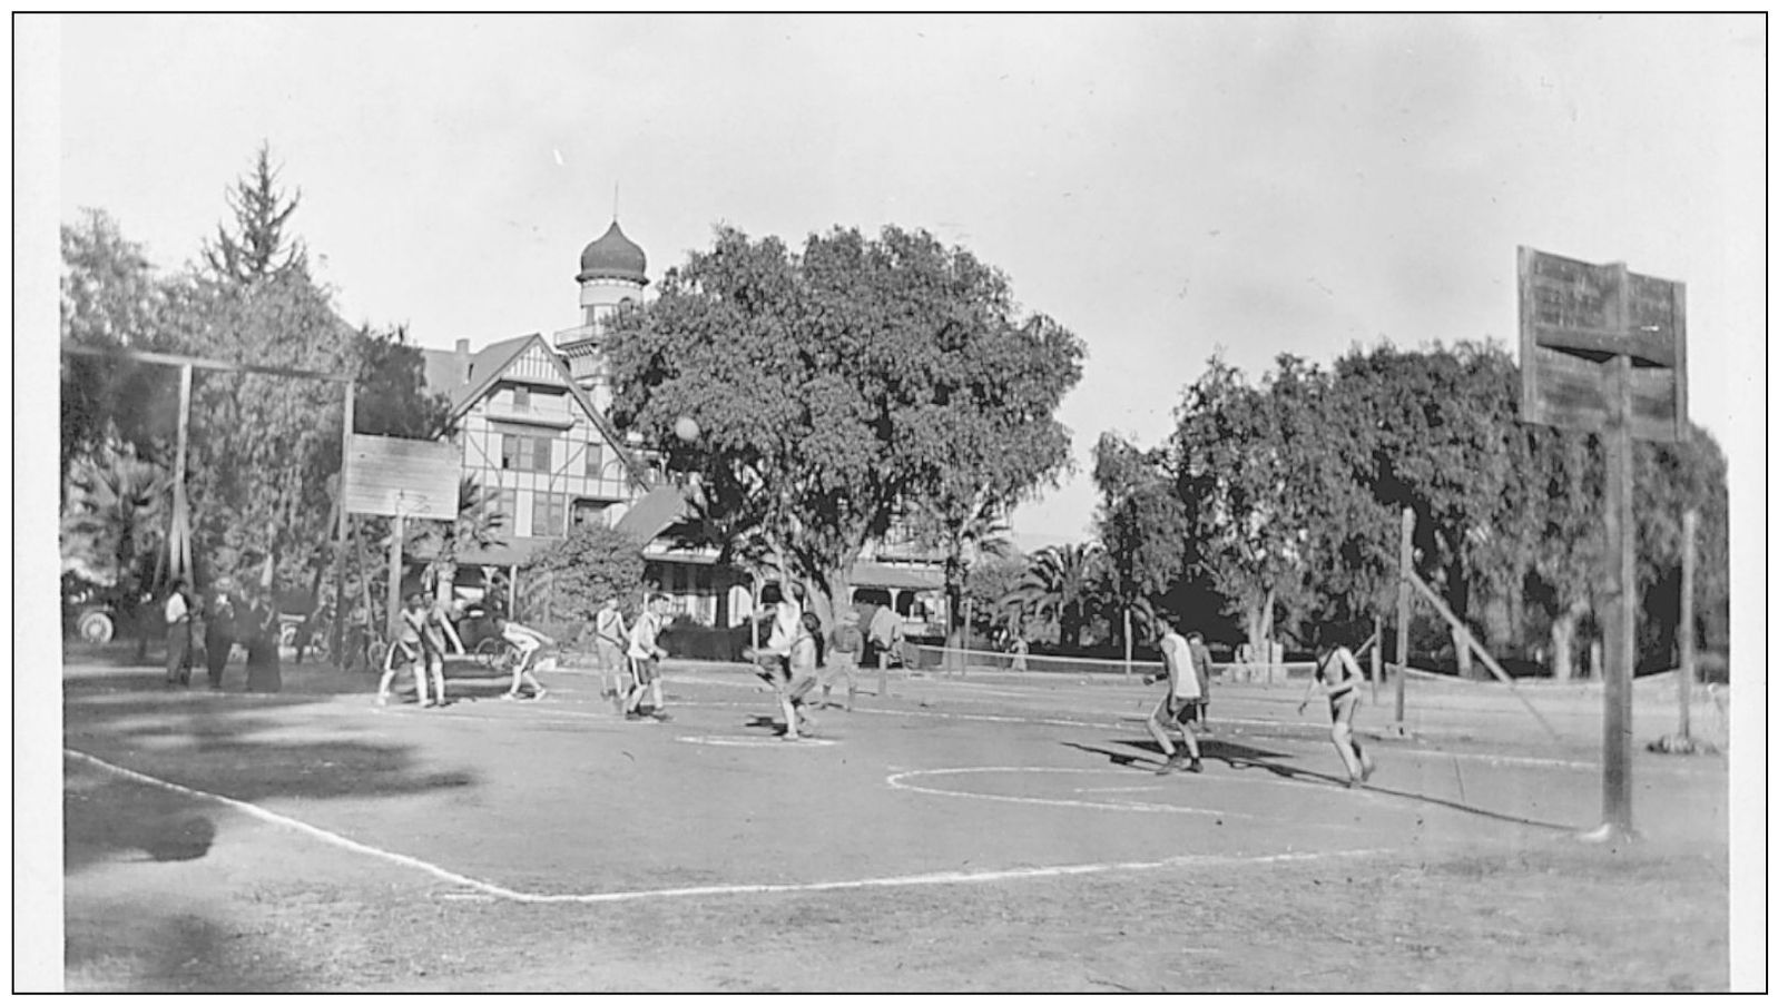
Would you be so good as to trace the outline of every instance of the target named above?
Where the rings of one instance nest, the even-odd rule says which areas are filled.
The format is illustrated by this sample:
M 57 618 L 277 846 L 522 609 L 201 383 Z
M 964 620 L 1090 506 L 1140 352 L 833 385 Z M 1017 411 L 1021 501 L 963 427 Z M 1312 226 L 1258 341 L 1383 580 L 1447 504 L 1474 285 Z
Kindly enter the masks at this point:
M 1726 757 L 1661 757 L 1598 823 L 1598 700 L 1410 684 L 1358 713 L 1213 688 L 1202 775 L 1154 775 L 1154 688 L 866 674 L 782 743 L 743 667 L 444 709 L 64 665 L 69 992 L 1675 992 L 1728 988 Z M 1641 686 L 1639 686 L 1641 688 Z M 1638 693 L 1638 700 L 1643 695 Z M 1646 734 L 1646 736 L 1643 736 Z

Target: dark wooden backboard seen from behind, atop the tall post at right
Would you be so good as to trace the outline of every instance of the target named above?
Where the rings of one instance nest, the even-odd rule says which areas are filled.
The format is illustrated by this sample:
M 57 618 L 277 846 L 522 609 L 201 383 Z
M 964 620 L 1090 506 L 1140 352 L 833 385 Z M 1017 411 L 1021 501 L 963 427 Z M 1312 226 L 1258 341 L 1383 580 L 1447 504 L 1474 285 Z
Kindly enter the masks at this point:
M 1518 418 L 1604 432 L 1613 357 L 1630 357 L 1630 435 L 1686 439 L 1686 284 L 1518 249 Z

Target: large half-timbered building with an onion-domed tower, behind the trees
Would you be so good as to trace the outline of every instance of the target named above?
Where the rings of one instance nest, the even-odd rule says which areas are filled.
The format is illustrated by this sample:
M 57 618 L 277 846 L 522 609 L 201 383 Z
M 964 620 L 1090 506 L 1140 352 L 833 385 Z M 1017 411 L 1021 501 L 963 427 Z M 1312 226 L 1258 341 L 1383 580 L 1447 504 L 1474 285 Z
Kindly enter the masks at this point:
M 505 544 L 464 555 L 462 565 L 500 569 L 510 583 L 535 551 L 597 521 L 647 542 L 644 578 L 677 613 L 706 626 L 743 622 L 754 610 L 750 576 L 718 565 L 713 551 L 676 544 L 674 526 L 686 515 L 679 489 L 605 418 L 605 322 L 644 302 L 647 254 L 612 220 L 580 252 L 574 281 L 580 320 L 551 339 L 533 332 L 475 352 L 468 339 L 425 350 L 428 387 L 450 396 L 462 473 L 505 514 Z M 852 583 L 852 601 L 889 604 L 916 626 L 942 604 L 939 567 L 905 535 L 868 546 Z

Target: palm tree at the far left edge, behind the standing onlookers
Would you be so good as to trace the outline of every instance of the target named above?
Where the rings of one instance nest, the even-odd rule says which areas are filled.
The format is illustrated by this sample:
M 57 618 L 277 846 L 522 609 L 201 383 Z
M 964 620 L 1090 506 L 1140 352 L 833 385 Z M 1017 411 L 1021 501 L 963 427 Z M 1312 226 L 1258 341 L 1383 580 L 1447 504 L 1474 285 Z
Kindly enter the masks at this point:
M 144 565 L 165 540 L 171 489 L 165 467 L 117 441 L 75 459 L 68 471 L 59 535 L 62 567 L 112 587 L 117 615 L 128 624 L 139 622 L 139 601 L 151 587 Z M 137 652 L 146 651 L 144 635 Z

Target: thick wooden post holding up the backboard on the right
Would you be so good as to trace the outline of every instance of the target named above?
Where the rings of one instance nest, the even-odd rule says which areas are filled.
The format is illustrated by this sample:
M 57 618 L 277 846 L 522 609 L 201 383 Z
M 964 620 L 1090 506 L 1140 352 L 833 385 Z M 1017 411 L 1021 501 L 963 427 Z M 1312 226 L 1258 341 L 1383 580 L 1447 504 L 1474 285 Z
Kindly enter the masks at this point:
M 1630 679 L 1636 674 L 1636 480 L 1630 443 L 1630 357 L 1609 364 L 1606 419 L 1606 716 L 1602 830 L 1630 832 Z

